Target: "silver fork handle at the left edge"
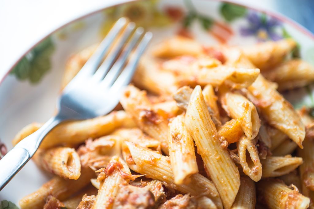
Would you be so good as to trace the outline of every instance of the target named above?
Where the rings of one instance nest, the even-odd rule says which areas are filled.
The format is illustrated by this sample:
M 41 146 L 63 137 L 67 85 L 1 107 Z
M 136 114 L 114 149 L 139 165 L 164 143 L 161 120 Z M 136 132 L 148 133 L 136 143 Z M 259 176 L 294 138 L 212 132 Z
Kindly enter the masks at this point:
M 35 154 L 43 138 L 62 119 L 53 117 L 41 128 L 25 137 L 0 160 L 0 191 Z

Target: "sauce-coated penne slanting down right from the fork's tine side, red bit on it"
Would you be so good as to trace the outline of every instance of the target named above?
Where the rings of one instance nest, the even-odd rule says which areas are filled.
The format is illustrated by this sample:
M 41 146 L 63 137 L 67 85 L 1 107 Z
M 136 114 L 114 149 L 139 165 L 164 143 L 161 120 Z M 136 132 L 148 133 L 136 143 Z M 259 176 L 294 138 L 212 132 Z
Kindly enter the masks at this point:
M 133 116 L 138 127 L 160 141 L 161 149 L 168 152 L 168 122 L 152 110 L 146 92 L 127 86 L 120 100 L 122 107 Z

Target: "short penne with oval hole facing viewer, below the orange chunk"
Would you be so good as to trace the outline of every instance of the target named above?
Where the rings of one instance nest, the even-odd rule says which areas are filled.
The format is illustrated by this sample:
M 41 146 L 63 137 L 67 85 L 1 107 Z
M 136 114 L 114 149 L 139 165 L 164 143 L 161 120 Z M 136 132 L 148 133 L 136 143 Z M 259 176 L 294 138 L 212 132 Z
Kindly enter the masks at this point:
M 243 136 L 237 142 L 237 148 L 243 172 L 253 181 L 259 181 L 262 177 L 262 164 L 253 140 Z

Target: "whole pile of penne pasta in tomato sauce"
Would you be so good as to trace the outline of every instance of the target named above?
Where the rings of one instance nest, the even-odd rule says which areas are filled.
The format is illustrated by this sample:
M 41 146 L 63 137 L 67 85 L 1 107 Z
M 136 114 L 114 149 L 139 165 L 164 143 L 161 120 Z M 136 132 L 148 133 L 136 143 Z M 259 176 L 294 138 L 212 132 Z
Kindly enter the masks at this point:
M 314 80 L 295 48 L 153 46 L 116 110 L 46 136 L 33 159 L 55 177 L 21 208 L 313 208 L 314 118 L 279 93 Z M 95 49 L 68 60 L 62 87 Z

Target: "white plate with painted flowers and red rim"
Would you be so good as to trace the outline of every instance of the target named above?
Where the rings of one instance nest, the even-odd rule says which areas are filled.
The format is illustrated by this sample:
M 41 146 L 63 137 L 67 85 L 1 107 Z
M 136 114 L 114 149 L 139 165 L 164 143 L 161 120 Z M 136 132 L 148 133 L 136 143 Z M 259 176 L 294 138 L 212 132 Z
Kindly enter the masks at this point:
M 1 150 L 25 125 L 46 122 L 55 112 L 67 59 L 98 43 L 116 19 L 129 17 L 153 32 L 152 44 L 174 34 L 191 36 L 206 44 L 254 44 L 292 37 L 302 59 L 314 65 L 314 36 L 282 16 L 214 0 L 137 1 L 107 8 L 57 30 L 37 44 L 3 79 L 0 88 Z M 285 92 L 295 107 L 313 106 L 313 85 Z M 5 168 L 0 168 L 3 170 Z M 30 161 L 0 192 L 0 201 L 17 204 L 36 191 L 51 175 Z

